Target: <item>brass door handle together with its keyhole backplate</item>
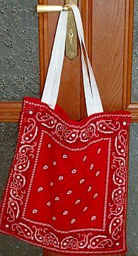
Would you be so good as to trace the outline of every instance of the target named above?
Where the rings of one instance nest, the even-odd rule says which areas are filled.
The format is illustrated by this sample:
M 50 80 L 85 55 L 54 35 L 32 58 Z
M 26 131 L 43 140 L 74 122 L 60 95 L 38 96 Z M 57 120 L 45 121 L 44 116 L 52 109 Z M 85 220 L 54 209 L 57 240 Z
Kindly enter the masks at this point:
M 76 23 L 74 20 L 74 14 L 71 11 L 71 7 L 67 6 L 69 3 L 78 4 L 77 0 L 65 0 L 65 6 L 49 6 L 49 5 L 37 5 L 37 12 L 52 12 L 52 11 L 69 11 L 67 21 L 67 38 L 66 38 L 66 56 L 69 60 L 73 60 L 77 54 L 77 31 Z

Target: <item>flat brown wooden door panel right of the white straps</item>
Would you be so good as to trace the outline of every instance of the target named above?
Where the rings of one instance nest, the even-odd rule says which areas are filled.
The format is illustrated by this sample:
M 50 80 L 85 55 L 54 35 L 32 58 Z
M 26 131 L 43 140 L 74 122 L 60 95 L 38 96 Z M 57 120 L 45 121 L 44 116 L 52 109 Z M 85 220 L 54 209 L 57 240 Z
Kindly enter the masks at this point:
M 125 1 L 93 1 L 92 65 L 107 111 L 122 109 L 124 23 Z

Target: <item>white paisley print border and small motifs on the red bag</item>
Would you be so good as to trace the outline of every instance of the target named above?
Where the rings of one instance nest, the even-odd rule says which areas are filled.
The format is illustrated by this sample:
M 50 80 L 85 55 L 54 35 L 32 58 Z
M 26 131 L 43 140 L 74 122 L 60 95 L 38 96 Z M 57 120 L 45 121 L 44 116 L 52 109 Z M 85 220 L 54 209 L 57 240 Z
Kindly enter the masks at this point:
M 11 173 L 8 178 L 6 191 L 1 202 L 0 231 L 14 235 L 17 238 L 33 243 L 56 252 L 66 252 L 71 254 L 105 254 L 125 252 L 125 215 L 127 200 L 127 136 L 130 127 L 130 114 L 128 112 L 115 112 L 94 114 L 86 118 L 81 124 L 71 124 L 60 117 L 50 107 L 40 103 L 40 100 L 26 98 L 23 103 L 21 113 L 20 132 L 18 135 L 18 145 L 16 155 L 11 166 Z M 58 145 L 74 154 L 74 151 L 84 151 L 82 163 L 86 163 L 88 155 L 86 149 L 92 144 L 109 140 L 111 142 L 107 159 L 110 173 L 107 172 L 107 186 L 105 195 L 107 197 L 104 205 L 105 221 L 103 230 L 91 227 L 88 230 L 82 228 L 75 230 L 73 227 L 76 218 L 72 216 L 71 230 L 56 230 L 53 225 L 40 223 L 37 220 L 25 218 L 25 208 L 30 196 L 35 169 L 40 157 L 40 147 L 43 137 L 52 139 L 54 146 Z M 52 149 L 51 141 L 47 141 L 47 150 Z M 101 146 L 98 146 L 96 154 L 102 154 Z M 65 157 L 66 156 L 66 157 Z M 68 154 L 61 156 L 62 161 L 67 161 Z M 93 159 L 94 160 L 94 159 Z M 45 167 L 47 166 L 47 168 Z M 50 164 L 45 163 L 43 171 L 50 169 Z M 57 161 L 53 159 L 52 168 L 56 168 Z M 44 168 L 45 167 L 45 168 Z M 93 172 L 95 164 L 91 161 L 88 170 Z M 96 170 L 95 178 L 100 177 L 102 171 Z M 32 174 L 32 176 L 30 175 Z M 71 168 L 69 174 L 76 177 L 79 174 L 77 168 Z M 58 182 L 64 182 L 64 175 L 57 177 Z M 79 186 L 85 185 L 85 175 L 79 180 Z M 61 185 L 62 186 L 62 185 Z M 50 189 L 54 189 L 54 182 L 50 181 Z M 39 195 L 45 191 L 41 185 L 37 189 Z M 67 190 L 71 191 L 71 190 Z M 93 186 L 86 188 L 86 193 L 92 193 Z M 68 193 L 70 197 L 74 191 Z M 93 192 L 93 201 L 100 195 L 98 191 Z M 61 197 L 56 194 L 54 202 L 61 201 Z M 50 208 L 51 201 L 48 201 Z M 45 203 L 46 205 L 46 203 Z M 74 205 L 79 207 L 81 199 L 76 198 Z M 85 214 L 88 206 L 84 206 L 82 212 Z M 32 209 L 33 216 L 39 213 L 39 209 Z M 66 214 L 65 214 L 66 213 Z M 56 214 L 56 213 L 55 213 Z M 69 215 L 68 210 L 64 210 L 63 218 Z M 91 216 L 91 223 L 97 220 L 95 214 Z M 56 215 L 52 216 L 52 221 L 57 221 Z M 91 224 L 93 225 L 93 224 Z

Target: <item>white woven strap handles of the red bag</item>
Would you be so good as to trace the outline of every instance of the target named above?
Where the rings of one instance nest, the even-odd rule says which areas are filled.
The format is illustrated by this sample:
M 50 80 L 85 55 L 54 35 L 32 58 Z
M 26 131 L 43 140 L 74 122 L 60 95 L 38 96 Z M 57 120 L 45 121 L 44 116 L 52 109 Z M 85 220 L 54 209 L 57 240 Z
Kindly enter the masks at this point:
M 79 9 L 75 4 L 68 4 L 67 6 L 71 6 L 72 11 L 74 12 L 74 18 L 76 21 L 76 27 L 77 27 L 78 36 L 79 36 L 79 42 L 81 46 L 81 63 L 82 63 L 83 78 L 84 78 L 84 92 L 86 97 L 86 109 L 87 109 L 87 114 L 89 116 L 93 113 L 103 112 L 103 107 L 100 101 L 100 95 L 99 95 L 98 88 L 96 85 L 96 80 L 94 78 L 93 71 L 91 68 L 91 63 L 88 59 L 88 54 L 86 52 L 86 46 L 84 42 L 84 30 L 82 26 Z M 67 16 L 68 16 L 68 12 L 62 12 L 59 16 L 57 32 L 54 39 L 54 46 L 52 50 L 52 57 L 50 60 L 50 66 L 49 66 L 47 78 L 45 81 L 45 88 L 42 95 L 42 102 L 45 102 L 48 105 L 50 105 L 52 109 L 54 109 L 57 102 L 59 83 L 60 83 L 60 78 L 62 73 L 66 31 L 67 31 Z M 89 72 L 90 78 L 88 77 L 82 44 L 84 45 L 84 50 L 86 53 L 86 60 L 87 60 L 88 72 Z

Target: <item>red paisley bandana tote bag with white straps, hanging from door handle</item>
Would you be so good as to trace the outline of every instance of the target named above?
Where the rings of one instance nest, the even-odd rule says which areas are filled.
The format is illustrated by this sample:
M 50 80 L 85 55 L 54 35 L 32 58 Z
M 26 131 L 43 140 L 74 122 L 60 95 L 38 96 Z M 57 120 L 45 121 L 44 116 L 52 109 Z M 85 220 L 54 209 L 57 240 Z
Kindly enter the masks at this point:
M 62 254 L 125 253 L 130 113 L 103 112 L 79 9 L 69 6 L 81 46 L 88 117 L 73 121 L 56 105 L 68 16 L 61 12 L 42 99 L 23 100 L 0 231 Z

